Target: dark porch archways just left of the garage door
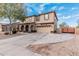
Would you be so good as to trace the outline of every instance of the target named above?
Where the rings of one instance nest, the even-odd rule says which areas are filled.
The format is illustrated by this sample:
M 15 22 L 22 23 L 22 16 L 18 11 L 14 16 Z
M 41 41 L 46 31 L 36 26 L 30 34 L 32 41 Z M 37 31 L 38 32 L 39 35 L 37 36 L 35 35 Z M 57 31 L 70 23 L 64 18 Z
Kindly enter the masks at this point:
M 35 23 L 23 23 L 19 25 L 18 31 L 20 32 L 35 32 L 36 25 Z

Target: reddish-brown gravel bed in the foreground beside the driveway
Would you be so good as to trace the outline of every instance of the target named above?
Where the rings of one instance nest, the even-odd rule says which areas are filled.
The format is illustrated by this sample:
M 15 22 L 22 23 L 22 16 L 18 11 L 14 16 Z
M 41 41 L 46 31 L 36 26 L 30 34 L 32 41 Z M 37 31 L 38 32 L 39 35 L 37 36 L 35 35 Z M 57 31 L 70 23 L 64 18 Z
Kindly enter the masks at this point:
M 79 35 L 74 36 L 72 40 L 64 42 L 33 44 L 28 47 L 43 56 L 79 56 Z

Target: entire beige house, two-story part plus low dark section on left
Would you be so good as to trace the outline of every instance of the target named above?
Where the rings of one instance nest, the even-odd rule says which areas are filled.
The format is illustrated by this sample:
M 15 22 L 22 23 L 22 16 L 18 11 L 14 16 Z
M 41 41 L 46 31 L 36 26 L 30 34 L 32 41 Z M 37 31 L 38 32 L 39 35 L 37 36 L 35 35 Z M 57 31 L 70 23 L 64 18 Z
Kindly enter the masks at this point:
M 12 29 L 16 28 L 20 32 L 56 32 L 57 16 L 55 12 L 40 14 L 38 16 L 28 16 L 23 23 L 11 24 Z M 2 25 L 2 31 L 8 31 L 10 25 Z

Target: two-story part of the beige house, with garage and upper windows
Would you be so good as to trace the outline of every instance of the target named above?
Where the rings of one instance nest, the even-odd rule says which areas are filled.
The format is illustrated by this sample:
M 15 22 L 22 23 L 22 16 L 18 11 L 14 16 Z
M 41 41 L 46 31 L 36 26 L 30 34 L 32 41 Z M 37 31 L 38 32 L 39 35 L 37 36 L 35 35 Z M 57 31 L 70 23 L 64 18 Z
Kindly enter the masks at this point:
M 40 14 L 38 16 L 29 16 L 25 19 L 26 31 L 37 32 L 56 32 L 57 16 L 55 12 Z

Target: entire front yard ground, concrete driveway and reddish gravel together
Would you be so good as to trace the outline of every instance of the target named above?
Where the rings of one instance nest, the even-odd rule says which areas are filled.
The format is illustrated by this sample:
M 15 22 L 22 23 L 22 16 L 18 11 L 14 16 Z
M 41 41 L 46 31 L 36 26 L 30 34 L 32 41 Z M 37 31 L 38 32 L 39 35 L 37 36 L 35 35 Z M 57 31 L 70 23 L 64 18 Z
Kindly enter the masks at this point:
M 0 36 L 0 55 L 48 56 L 79 55 L 79 35 L 23 33 Z

